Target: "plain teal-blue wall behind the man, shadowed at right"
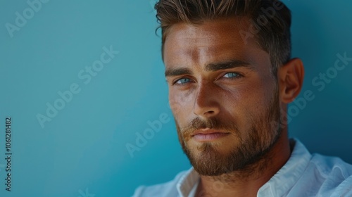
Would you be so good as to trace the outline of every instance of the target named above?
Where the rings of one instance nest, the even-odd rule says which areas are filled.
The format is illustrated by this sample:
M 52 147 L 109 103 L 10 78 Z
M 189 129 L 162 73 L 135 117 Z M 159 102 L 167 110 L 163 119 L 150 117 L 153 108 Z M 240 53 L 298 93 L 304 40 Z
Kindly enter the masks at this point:
M 303 91 L 315 99 L 290 122 L 289 132 L 311 152 L 352 163 L 352 61 L 325 89 L 312 80 L 352 57 L 352 1 L 284 1 L 292 11 L 293 56 L 306 65 Z M 155 1 L 49 1 L 13 37 L 26 1 L 0 1 L 0 196 L 131 196 L 187 170 L 168 107 Z M 80 70 L 99 60 L 103 46 L 118 55 L 88 84 Z M 81 91 L 41 127 L 58 91 Z M 301 94 L 302 96 L 302 94 Z M 168 115 L 133 157 L 126 144 L 149 121 Z M 12 118 L 12 185 L 5 191 L 5 117 Z

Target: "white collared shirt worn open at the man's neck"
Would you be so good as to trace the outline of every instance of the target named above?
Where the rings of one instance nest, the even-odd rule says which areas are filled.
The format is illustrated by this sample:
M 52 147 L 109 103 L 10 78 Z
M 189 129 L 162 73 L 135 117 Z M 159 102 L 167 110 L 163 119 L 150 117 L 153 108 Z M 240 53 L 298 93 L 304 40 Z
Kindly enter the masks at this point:
M 352 196 L 352 165 L 340 158 L 311 155 L 297 139 L 287 163 L 258 190 L 257 196 Z M 140 186 L 134 197 L 194 197 L 199 174 L 180 172 L 165 184 Z

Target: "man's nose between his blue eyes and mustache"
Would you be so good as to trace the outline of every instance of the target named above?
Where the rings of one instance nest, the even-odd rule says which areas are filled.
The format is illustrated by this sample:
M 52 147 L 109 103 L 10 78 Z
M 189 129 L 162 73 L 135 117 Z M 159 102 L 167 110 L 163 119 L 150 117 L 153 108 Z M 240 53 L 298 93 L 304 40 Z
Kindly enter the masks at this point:
M 220 112 L 218 92 L 211 82 L 202 82 L 194 101 L 194 114 L 203 118 L 213 117 Z

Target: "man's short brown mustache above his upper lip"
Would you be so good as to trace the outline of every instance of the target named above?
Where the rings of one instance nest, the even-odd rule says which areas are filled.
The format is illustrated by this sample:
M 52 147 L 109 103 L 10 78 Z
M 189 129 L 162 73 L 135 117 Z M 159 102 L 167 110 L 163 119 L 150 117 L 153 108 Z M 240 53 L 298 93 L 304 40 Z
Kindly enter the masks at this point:
M 184 137 L 188 138 L 194 133 L 194 131 L 199 129 L 215 129 L 221 130 L 223 132 L 237 133 L 239 131 L 237 125 L 234 122 L 223 121 L 218 119 L 217 117 L 211 117 L 207 120 L 202 120 L 199 117 L 191 120 L 187 127 L 181 129 L 181 133 Z

